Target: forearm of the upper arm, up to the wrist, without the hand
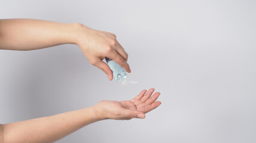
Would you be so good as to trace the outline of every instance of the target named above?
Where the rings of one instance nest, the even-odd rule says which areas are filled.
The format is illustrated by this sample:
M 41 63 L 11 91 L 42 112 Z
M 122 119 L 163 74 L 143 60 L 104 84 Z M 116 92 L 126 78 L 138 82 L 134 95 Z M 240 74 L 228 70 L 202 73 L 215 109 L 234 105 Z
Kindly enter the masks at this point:
M 77 25 L 34 19 L 0 20 L 0 49 L 31 50 L 76 43 Z

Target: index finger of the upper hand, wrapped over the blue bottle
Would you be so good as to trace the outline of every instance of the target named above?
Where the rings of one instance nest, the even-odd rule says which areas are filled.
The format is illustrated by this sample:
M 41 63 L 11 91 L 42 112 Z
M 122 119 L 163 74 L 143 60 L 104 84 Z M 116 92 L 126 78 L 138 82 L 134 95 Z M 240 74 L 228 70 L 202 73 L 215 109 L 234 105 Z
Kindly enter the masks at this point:
M 128 73 L 131 73 L 131 69 L 129 68 L 129 64 L 127 63 L 127 61 L 124 60 L 124 58 L 121 57 L 121 55 L 118 54 L 118 52 L 116 52 L 116 51 L 112 52 L 112 54 L 110 54 L 108 56 L 108 58 L 111 58 L 116 63 L 118 63 L 120 66 L 124 67 L 124 69 Z

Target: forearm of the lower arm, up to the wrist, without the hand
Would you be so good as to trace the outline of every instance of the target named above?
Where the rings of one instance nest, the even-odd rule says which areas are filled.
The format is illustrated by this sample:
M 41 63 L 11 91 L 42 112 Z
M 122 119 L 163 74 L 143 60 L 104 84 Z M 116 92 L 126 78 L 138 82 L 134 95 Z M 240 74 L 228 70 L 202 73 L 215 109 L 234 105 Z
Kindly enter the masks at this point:
M 5 124 L 2 137 L 4 143 L 55 142 L 99 120 L 101 117 L 95 114 L 93 107 L 89 107 L 55 116 Z

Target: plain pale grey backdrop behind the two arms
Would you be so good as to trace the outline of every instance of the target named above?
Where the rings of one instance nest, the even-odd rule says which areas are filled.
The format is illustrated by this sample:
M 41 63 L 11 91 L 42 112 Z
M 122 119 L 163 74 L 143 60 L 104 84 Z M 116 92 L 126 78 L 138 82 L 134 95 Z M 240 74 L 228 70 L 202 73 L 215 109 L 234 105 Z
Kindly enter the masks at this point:
M 110 82 L 76 45 L 0 51 L 0 123 L 130 100 L 146 119 L 104 120 L 58 142 L 256 142 L 256 1 L 0 1 L 0 18 L 82 23 L 115 33 L 130 80 Z M 15 41 L 13 41 L 15 42 Z

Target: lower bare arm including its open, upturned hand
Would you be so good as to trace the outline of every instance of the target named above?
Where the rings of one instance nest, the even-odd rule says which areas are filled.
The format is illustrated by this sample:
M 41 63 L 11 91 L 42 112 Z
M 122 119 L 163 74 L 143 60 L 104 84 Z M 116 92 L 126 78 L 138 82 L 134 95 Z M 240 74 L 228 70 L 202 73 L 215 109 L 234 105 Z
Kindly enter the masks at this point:
M 159 92 L 152 95 L 154 89 L 146 90 L 129 101 L 101 101 L 82 110 L 70 111 L 55 116 L 41 117 L 22 122 L 1 125 L 1 143 L 11 142 L 55 142 L 86 125 L 103 119 L 129 120 L 145 117 L 147 113 L 158 107 L 156 101 Z M 152 97 L 150 97 L 152 95 Z

